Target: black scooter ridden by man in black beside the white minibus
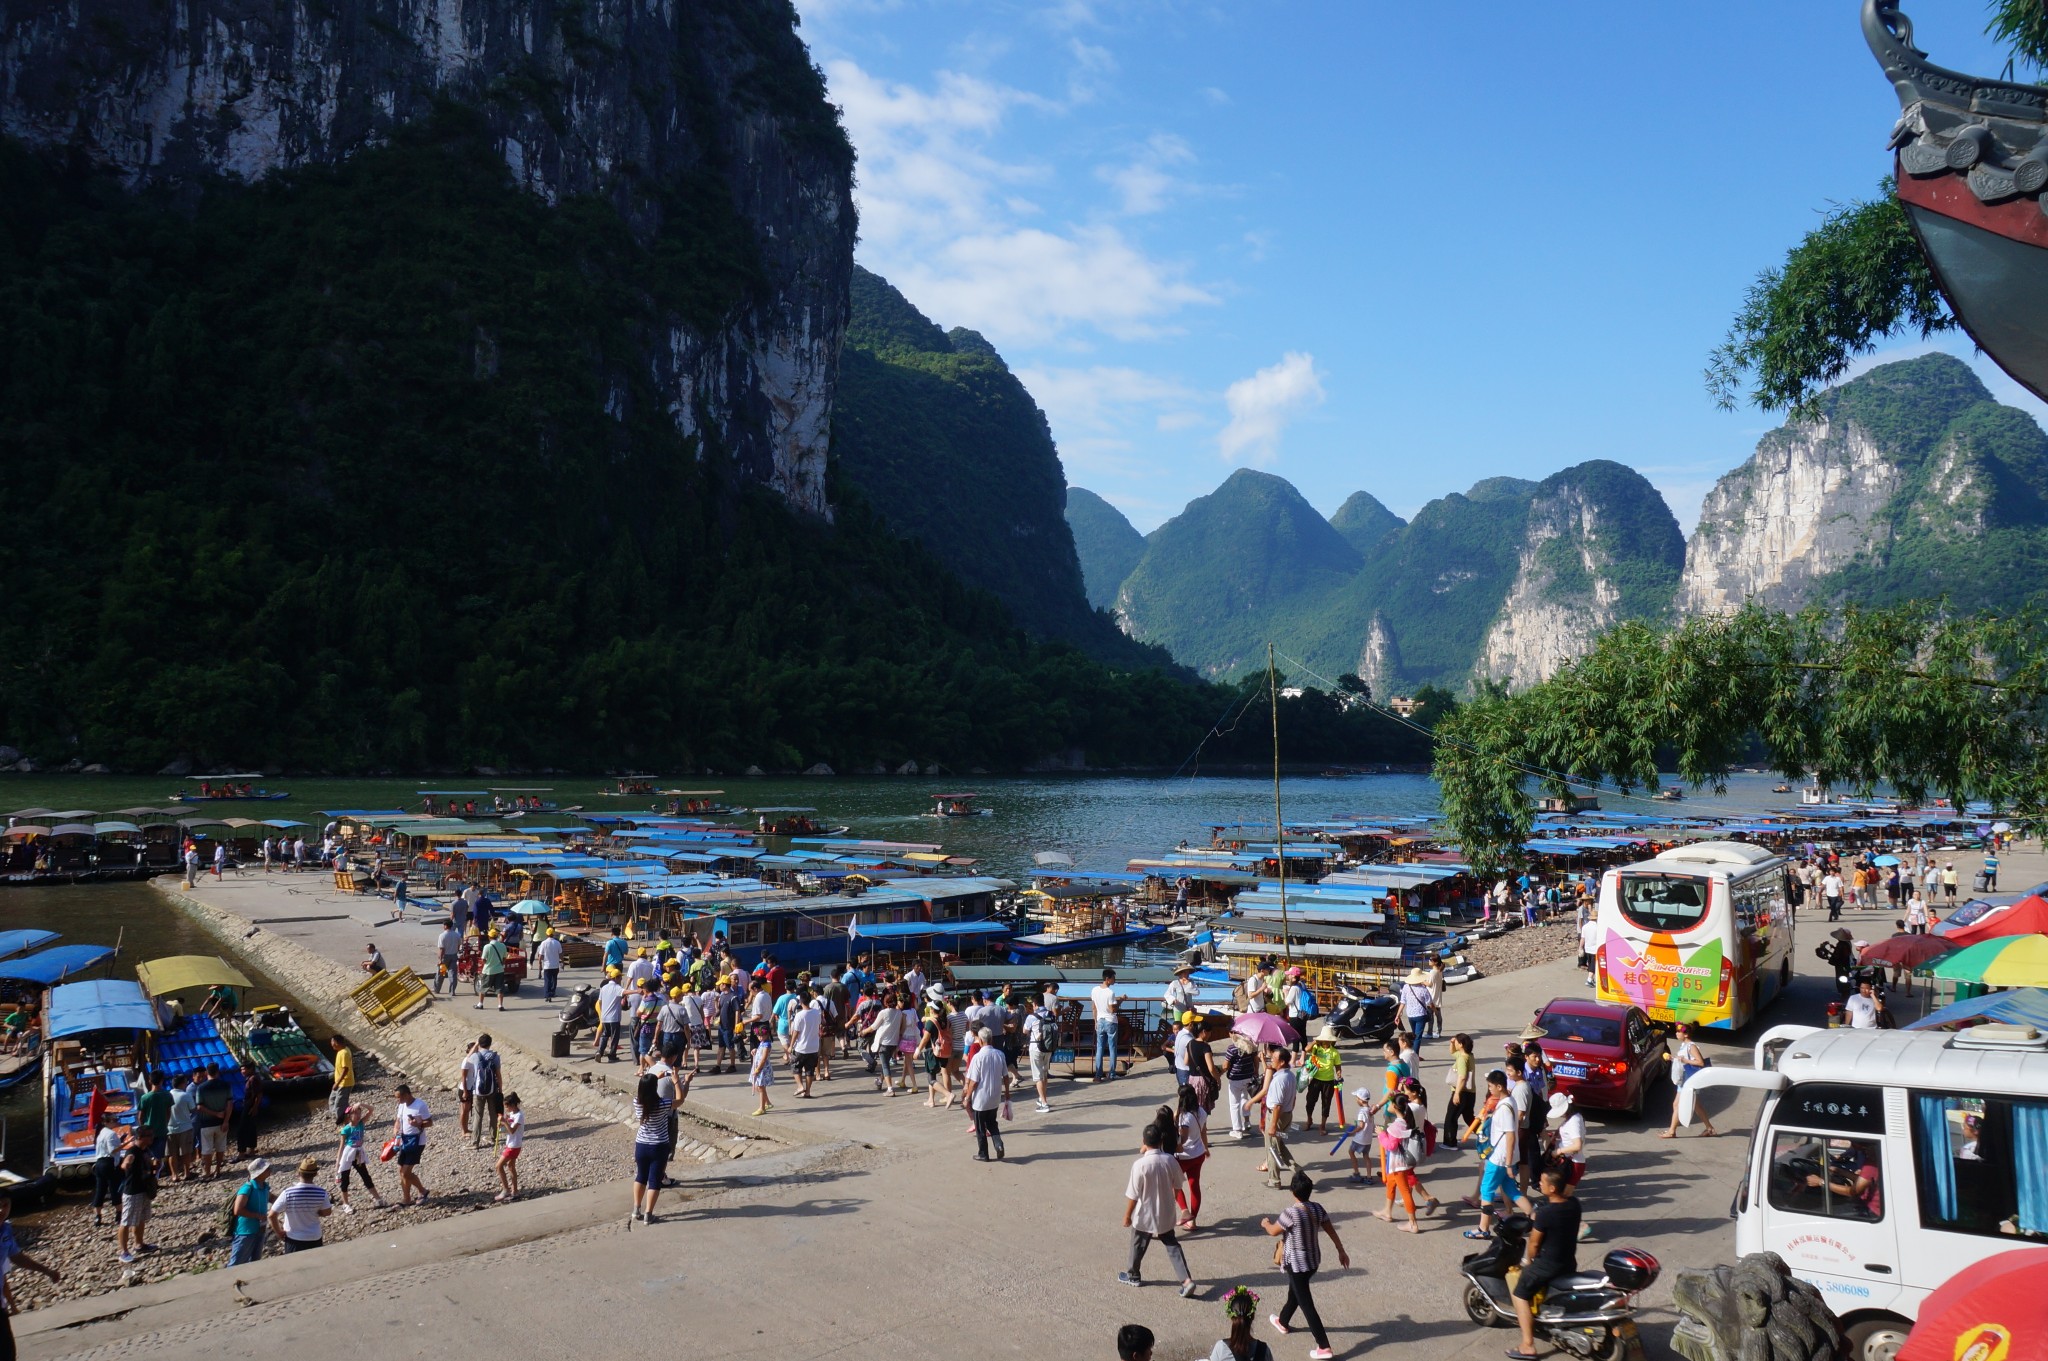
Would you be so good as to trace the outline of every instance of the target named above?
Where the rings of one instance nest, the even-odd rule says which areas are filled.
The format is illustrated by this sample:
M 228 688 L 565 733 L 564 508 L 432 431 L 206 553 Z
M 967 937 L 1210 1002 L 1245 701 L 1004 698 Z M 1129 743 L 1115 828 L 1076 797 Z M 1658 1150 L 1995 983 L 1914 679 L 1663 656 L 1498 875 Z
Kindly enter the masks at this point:
M 1513 1214 L 1493 1228 L 1493 1242 L 1464 1259 L 1464 1316 L 1481 1328 L 1511 1328 L 1516 1302 L 1507 1269 L 1522 1265 L 1530 1218 Z M 1608 1361 L 1636 1341 L 1636 1296 L 1657 1279 L 1657 1259 L 1642 1248 L 1614 1248 L 1599 1271 L 1565 1275 L 1536 1298 L 1536 1338 L 1573 1357 Z

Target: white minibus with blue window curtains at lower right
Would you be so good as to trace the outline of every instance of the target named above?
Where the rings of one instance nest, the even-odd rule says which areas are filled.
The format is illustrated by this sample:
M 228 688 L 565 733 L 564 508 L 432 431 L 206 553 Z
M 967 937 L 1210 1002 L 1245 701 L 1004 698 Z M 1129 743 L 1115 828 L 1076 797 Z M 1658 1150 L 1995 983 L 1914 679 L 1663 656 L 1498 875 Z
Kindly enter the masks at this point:
M 1964 1267 L 2048 1242 L 2048 1036 L 2030 1025 L 1778 1025 L 1753 1068 L 1696 1072 L 1679 1119 L 1708 1087 L 1763 1093 L 1735 1250 L 1819 1285 L 1853 1361 L 1890 1361 Z

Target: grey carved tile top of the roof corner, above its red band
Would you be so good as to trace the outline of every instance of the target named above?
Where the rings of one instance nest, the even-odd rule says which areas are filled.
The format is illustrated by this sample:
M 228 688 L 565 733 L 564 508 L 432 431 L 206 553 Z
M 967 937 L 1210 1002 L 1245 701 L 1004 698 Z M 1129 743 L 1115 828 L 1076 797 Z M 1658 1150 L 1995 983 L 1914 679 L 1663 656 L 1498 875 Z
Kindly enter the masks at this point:
M 2048 88 L 1980 80 L 1927 61 L 1901 0 L 1864 0 L 1864 41 L 1898 92 L 1898 172 L 1958 176 L 1980 203 L 2036 199 L 2048 213 Z

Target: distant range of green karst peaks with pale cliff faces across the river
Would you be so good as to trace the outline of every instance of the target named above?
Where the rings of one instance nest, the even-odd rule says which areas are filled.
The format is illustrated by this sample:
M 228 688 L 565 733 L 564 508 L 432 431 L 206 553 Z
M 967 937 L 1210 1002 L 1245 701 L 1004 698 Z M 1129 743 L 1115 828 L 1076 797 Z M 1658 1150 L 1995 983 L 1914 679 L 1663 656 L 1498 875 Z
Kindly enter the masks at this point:
M 1100 497 L 1073 489 L 1075 501 Z M 1102 512 L 1087 516 L 1098 528 L 1077 544 L 1100 598 L 1120 559 L 1096 546 Z M 1690 542 L 1640 473 L 1595 458 L 1542 481 L 1489 477 L 1407 522 L 1368 491 L 1323 520 L 1284 479 L 1239 471 L 1143 544 L 1116 618 L 1204 675 L 1239 675 L 1274 641 L 1382 696 L 1528 684 L 1622 620 L 1749 598 L 2015 606 L 2048 587 L 2048 434 L 1962 360 L 1927 354 L 1872 368 L 1835 389 L 1821 420 L 1763 436 L 1708 495 Z

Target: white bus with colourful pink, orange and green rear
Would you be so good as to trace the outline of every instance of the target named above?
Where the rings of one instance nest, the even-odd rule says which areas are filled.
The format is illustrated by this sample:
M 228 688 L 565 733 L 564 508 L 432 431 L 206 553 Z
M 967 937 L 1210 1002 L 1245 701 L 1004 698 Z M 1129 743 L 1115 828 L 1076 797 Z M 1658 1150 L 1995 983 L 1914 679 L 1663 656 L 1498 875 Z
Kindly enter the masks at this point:
M 1786 860 L 1747 841 L 1675 845 L 1599 878 L 1599 1001 L 1741 1029 L 1792 980 Z

